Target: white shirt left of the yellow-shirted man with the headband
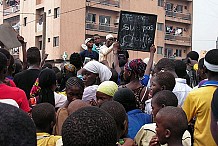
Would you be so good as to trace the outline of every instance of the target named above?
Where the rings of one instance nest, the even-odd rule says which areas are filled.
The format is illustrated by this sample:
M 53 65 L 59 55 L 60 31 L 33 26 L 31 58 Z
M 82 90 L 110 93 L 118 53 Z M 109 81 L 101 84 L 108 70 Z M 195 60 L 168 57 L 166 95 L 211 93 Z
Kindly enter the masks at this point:
M 173 93 L 178 98 L 178 105 L 180 107 L 182 107 L 188 93 L 191 90 L 192 90 L 192 88 L 186 84 L 186 79 L 176 78 L 176 85 L 173 89 Z

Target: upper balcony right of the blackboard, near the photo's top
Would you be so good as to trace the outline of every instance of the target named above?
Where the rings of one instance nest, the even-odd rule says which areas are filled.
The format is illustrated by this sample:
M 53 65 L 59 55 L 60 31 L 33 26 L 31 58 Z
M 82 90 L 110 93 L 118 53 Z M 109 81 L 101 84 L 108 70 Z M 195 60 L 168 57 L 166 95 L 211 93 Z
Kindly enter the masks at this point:
M 191 24 L 191 14 L 166 10 L 166 20 Z

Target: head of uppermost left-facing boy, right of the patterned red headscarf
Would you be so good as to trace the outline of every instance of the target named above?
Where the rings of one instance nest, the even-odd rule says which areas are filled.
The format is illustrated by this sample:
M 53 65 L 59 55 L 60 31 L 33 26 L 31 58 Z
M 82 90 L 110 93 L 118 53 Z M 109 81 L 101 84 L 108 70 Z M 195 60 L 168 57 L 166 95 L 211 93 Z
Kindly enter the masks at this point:
M 175 85 L 175 77 L 171 73 L 159 72 L 152 79 L 150 95 L 153 96 L 155 93 L 162 90 L 173 91 Z

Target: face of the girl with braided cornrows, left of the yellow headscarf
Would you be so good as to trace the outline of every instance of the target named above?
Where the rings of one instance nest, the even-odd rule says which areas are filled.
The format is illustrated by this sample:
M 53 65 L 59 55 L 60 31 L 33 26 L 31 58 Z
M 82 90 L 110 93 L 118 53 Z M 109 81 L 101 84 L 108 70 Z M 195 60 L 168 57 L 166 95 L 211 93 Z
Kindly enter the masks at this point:
M 67 100 L 72 102 L 76 99 L 82 99 L 83 91 L 77 86 L 72 86 L 66 89 Z

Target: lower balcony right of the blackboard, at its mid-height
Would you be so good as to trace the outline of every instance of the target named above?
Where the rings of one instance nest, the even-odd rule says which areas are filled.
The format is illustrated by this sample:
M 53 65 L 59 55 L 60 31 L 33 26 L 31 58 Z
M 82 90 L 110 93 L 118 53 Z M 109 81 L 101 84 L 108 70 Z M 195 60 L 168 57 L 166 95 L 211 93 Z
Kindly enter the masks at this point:
M 191 37 L 180 35 L 165 34 L 165 43 L 178 46 L 191 46 Z

